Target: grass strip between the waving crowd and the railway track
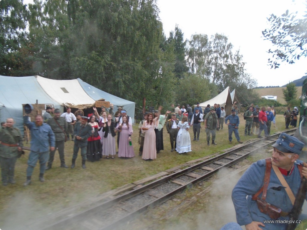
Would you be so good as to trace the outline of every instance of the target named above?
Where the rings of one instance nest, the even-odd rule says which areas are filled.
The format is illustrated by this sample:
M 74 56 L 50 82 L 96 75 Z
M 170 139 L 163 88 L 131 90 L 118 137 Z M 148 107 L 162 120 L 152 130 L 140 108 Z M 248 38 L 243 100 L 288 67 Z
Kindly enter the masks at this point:
M 240 117 L 241 125 L 239 134 L 242 141 L 251 139 L 244 136 L 245 121 Z M 271 134 L 282 131 L 285 128 L 284 118 L 277 115 L 277 127 L 271 128 Z M 131 159 L 102 159 L 97 162 L 87 162 L 86 169 L 81 168 L 80 153 L 76 160 L 74 169 L 60 168 L 59 155 L 56 152 L 52 169 L 46 171 L 46 182 L 38 180 L 39 164 L 34 169 L 32 184 L 24 187 L 27 168 L 28 152 L 17 160 L 15 167 L 15 185 L 1 186 L 0 193 L 0 228 L 17 229 L 12 226 L 31 220 L 33 217 L 47 217 L 54 212 L 80 203 L 89 198 L 93 198 L 118 188 L 136 180 L 157 174 L 160 171 L 181 165 L 192 159 L 197 159 L 210 155 L 237 144 L 233 135 L 233 144 L 229 144 L 227 127 L 216 133 L 216 146 L 207 146 L 206 134 L 202 125 L 200 141 L 192 141 L 192 152 L 179 155 L 170 152 L 169 135 L 164 128 L 164 151 L 157 155 L 153 161 L 144 161 L 138 156 L 138 125 L 134 125 L 132 142 L 134 145 L 135 157 Z M 192 129 L 189 130 L 191 139 Z M 256 138 L 256 136 L 254 136 Z M 65 144 L 65 160 L 70 167 L 72 159 L 73 142 Z M 229 191 L 231 192 L 231 191 Z M 2 228 L 3 227 L 3 228 Z M 25 228 L 26 229 L 26 228 Z

